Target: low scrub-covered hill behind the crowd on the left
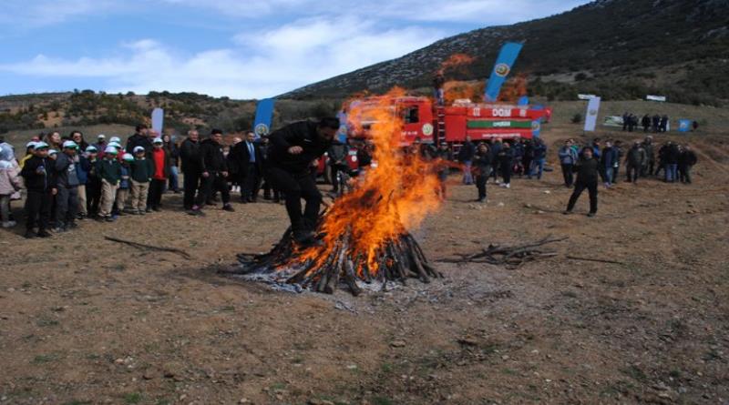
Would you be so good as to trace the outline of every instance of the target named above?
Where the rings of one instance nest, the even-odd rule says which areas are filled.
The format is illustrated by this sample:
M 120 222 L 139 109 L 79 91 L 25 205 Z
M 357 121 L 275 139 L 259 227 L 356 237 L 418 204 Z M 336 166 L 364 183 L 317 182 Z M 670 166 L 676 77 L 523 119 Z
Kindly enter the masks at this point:
M 25 130 L 149 124 L 155 107 L 165 109 L 165 127 L 241 132 L 252 128 L 255 100 L 232 100 L 196 93 L 107 94 L 93 90 L 0 97 L 0 134 Z M 332 115 L 339 103 L 327 100 L 279 100 L 273 125 L 305 117 Z M 117 135 L 117 134 L 115 134 Z M 120 134 L 119 134 L 120 135 Z

